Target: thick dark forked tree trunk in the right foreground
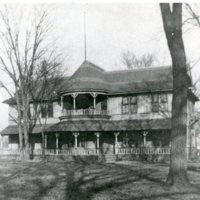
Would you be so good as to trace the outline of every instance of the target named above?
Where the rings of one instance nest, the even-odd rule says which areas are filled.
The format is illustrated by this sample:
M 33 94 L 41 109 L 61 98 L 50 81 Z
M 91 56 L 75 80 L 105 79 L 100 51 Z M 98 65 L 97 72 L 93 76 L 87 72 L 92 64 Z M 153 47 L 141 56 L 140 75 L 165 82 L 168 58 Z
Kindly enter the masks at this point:
M 173 100 L 171 158 L 167 183 L 177 188 L 189 185 L 187 176 L 187 90 L 188 75 L 182 39 L 182 4 L 161 3 L 163 26 L 172 58 Z

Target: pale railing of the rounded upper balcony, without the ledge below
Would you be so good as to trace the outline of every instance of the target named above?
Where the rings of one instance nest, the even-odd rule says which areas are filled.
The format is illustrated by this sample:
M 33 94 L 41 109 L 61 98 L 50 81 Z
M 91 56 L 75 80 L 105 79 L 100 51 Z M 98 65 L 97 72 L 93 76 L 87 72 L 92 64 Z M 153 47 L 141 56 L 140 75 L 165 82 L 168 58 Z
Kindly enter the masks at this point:
M 97 109 L 76 109 L 76 110 L 63 110 L 64 116 L 76 116 L 76 115 L 108 115 L 107 110 Z

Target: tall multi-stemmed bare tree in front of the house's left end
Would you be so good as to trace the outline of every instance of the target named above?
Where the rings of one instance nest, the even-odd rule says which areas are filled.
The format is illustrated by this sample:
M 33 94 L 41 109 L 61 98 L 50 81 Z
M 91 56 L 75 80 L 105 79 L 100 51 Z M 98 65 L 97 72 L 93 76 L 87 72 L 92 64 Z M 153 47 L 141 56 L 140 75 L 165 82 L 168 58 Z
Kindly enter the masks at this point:
M 24 157 L 29 159 L 29 136 L 33 129 L 30 102 L 33 98 L 32 92 L 37 93 L 34 88 L 38 85 L 36 82 L 45 76 L 42 73 L 39 75 L 41 71 L 39 63 L 44 59 L 48 60 L 48 63 L 52 61 L 56 63 L 59 56 L 55 55 L 55 50 L 50 50 L 52 46 L 47 41 L 51 27 L 47 20 L 47 10 L 41 9 L 35 12 L 33 20 L 29 22 L 30 25 L 20 28 L 19 22 L 14 20 L 6 7 L 0 11 L 0 22 L 0 42 L 3 46 L 0 54 L 0 69 L 11 80 L 14 95 L 6 84 L 1 83 L 1 86 L 16 100 L 20 152 L 22 156 L 24 151 Z

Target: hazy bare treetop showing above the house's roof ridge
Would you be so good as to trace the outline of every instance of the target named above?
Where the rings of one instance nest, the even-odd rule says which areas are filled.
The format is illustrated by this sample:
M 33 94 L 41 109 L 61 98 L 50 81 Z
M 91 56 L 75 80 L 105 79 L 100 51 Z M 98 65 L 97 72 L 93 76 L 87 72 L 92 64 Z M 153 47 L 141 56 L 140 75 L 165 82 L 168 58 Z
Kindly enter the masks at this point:
M 130 52 L 124 51 L 122 53 L 122 63 L 128 68 L 141 68 L 141 67 L 150 67 L 155 62 L 155 56 L 153 54 L 145 54 L 140 58 Z

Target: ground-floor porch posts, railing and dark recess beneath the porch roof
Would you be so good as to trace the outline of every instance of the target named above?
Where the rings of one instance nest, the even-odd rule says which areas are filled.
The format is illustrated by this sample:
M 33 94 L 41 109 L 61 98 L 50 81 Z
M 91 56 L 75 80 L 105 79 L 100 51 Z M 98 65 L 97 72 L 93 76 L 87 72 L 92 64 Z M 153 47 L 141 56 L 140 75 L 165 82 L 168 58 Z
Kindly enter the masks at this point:
M 166 141 L 169 133 L 164 131 L 130 132 L 66 132 L 46 133 L 45 155 L 105 155 L 105 154 L 170 154 L 170 144 Z M 10 136 L 10 149 L 0 154 L 19 154 L 16 148 L 17 135 Z M 41 134 L 30 138 L 32 155 L 42 155 Z M 13 145 L 16 143 L 16 145 Z M 15 148 L 13 148 L 15 147 Z

